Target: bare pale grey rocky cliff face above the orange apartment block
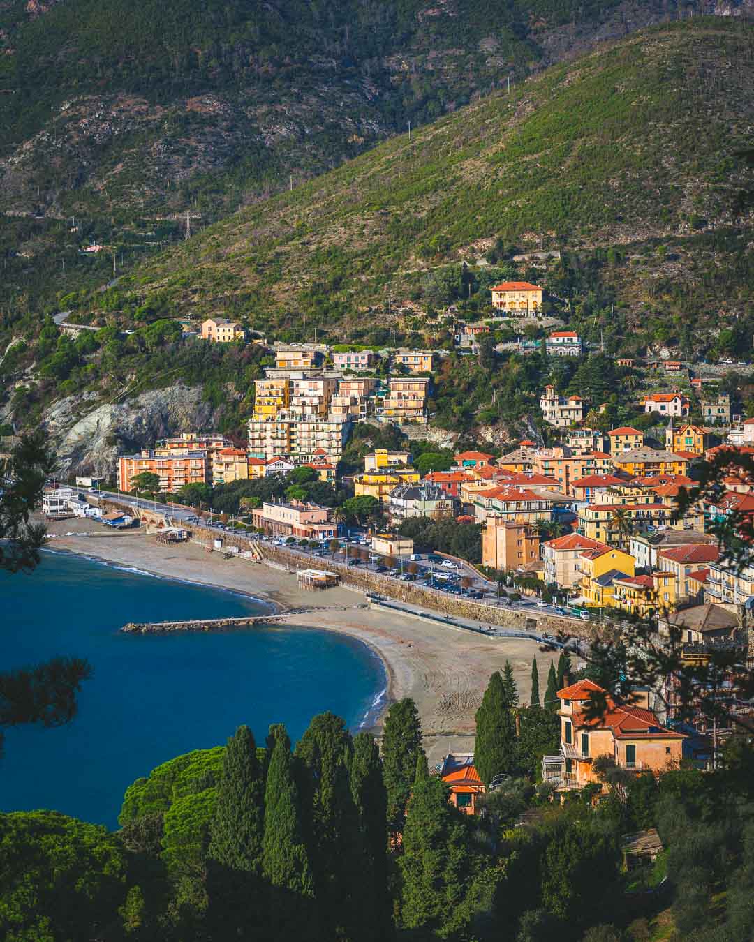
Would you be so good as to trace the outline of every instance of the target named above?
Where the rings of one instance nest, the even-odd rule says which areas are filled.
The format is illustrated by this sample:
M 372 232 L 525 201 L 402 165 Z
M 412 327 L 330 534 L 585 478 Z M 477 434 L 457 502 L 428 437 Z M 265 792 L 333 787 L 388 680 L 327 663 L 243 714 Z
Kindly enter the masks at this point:
M 110 477 L 124 451 L 151 447 L 156 439 L 182 431 L 211 430 L 212 408 L 201 388 L 168 386 L 123 403 L 94 406 L 81 416 L 81 401 L 58 400 L 42 417 L 60 462 L 60 473 Z

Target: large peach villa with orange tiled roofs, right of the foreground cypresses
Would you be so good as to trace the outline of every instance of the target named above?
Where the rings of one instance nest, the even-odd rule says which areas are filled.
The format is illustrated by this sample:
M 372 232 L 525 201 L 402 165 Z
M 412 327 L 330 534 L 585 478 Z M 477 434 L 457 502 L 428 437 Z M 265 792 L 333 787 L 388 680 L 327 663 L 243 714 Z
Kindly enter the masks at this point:
M 658 775 L 678 768 L 685 737 L 661 725 L 649 709 L 648 692 L 635 691 L 631 706 L 619 706 L 606 694 L 605 712 L 590 720 L 586 707 L 593 694 L 606 691 L 591 680 L 558 690 L 560 750 L 542 759 L 543 781 L 557 791 L 590 785 L 598 781 L 593 771 L 598 755 L 608 755 L 621 769 L 637 773 Z

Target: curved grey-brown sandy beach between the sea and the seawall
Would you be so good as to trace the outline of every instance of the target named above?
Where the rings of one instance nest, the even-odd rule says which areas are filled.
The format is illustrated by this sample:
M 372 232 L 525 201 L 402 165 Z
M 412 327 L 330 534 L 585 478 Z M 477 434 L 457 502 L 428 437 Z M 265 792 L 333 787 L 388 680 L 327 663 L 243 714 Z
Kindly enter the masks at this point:
M 317 607 L 296 613 L 291 624 L 310 625 L 350 635 L 369 644 L 385 664 L 390 701 L 410 696 L 417 704 L 430 762 L 449 751 L 473 750 L 474 713 L 490 674 L 510 660 L 522 703 L 528 703 L 532 658 L 537 657 L 540 686 L 550 654 L 535 642 L 484 638 L 460 628 L 358 608 L 364 596 L 350 589 L 303 592 L 283 570 L 250 560 L 226 560 L 197 544 L 162 545 L 139 530 L 107 531 L 90 520 L 48 524 L 51 549 L 132 566 L 158 576 L 188 579 L 249 593 L 284 609 Z M 123 622 L 128 621 L 127 612 Z

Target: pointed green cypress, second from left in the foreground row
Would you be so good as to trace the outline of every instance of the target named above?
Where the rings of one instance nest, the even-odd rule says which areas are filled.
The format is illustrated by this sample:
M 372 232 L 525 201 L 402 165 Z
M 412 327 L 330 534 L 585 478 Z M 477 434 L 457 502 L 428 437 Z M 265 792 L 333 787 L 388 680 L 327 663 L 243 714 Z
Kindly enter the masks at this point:
M 314 878 L 303 840 L 299 791 L 293 778 L 290 739 L 283 725 L 270 726 L 265 786 L 262 871 L 270 885 L 268 925 L 281 940 L 308 931 Z

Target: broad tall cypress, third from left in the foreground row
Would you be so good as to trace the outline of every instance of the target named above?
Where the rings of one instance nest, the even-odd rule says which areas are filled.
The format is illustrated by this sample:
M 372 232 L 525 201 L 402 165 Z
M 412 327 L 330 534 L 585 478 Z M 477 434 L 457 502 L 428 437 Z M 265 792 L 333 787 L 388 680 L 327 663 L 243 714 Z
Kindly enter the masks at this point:
M 353 742 L 346 724 L 320 713 L 296 745 L 307 844 L 322 938 L 361 938 L 361 821 L 351 788 Z

